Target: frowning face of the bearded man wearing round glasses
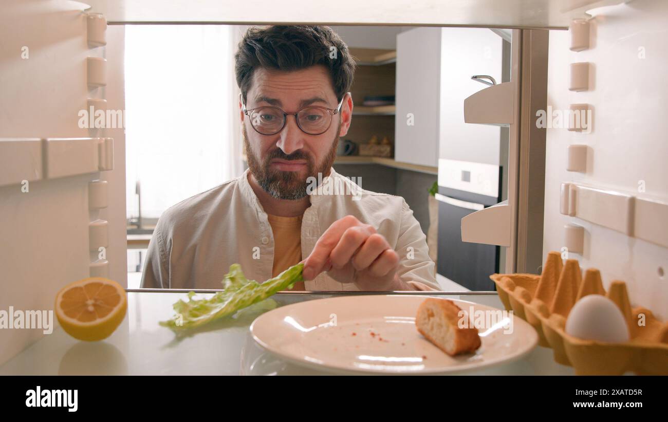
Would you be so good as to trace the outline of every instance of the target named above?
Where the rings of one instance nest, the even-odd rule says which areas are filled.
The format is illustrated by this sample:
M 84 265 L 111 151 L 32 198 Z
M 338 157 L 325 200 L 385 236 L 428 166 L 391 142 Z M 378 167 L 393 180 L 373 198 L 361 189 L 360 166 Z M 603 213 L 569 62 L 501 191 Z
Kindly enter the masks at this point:
M 324 66 L 297 71 L 273 71 L 264 68 L 253 73 L 253 83 L 246 95 L 246 110 L 265 105 L 296 113 L 307 105 L 337 108 L 338 101 L 331 77 Z M 303 101 L 312 100 L 308 103 Z M 326 132 L 309 135 L 297 126 L 295 116 L 287 116 L 285 127 L 275 135 L 259 134 L 246 118 L 239 101 L 244 146 L 248 168 L 257 183 L 274 198 L 297 200 L 307 195 L 307 179 L 327 176 L 336 157 L 340 136 L 350 126 L 352 100 L 344 99 Z

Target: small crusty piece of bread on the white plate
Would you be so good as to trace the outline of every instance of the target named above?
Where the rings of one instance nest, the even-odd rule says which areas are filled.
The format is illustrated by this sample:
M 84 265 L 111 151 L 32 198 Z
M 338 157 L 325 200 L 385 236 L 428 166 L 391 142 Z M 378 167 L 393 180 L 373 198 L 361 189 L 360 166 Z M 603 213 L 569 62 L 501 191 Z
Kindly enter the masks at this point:
M 478 329 L 458 327 L 460 310 L 452 300 L 428 298 L 418 308 L 415 326 L 420 334 L 450 356 L 473 353 L 481 344 Z

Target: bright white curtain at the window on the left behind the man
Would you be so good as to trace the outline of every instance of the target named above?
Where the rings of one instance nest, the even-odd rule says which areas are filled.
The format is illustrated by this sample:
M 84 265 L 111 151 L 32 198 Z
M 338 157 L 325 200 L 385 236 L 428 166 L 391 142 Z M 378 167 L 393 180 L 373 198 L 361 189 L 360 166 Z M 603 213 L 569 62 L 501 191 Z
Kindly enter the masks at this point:
M 127 25 L 128 218 L 170 206 L 240 175 L 234 53 L 247 27 Z

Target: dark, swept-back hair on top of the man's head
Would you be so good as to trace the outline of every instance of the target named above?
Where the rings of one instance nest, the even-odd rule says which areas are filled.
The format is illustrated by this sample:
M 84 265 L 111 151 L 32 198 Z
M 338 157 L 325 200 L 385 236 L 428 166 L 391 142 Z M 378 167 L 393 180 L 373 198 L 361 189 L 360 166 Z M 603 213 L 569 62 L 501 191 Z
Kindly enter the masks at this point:
M 333 51 L 336 55 L 330 58 Z M 355 74 L 355 60 L 347 45 L 330 27 L 321 25 L 251 27 L 240 41 L 234 59 L 236 84 L 244 101 L 257 67 L 292 71 L 324 65 L 337 101 L 350 91 Z

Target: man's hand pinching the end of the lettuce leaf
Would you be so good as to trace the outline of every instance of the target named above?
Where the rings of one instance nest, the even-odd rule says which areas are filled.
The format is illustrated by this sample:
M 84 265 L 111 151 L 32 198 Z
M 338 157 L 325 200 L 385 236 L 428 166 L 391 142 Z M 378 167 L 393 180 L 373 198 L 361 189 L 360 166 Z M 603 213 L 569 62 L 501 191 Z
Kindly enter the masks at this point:
M 304 261 L 303 277 L 323 271 L 342 283 L 354 282 L 360 290 L 413 290 L 397 276 L 399 255 L 369 224 L 353 216 L 333 222 Z

